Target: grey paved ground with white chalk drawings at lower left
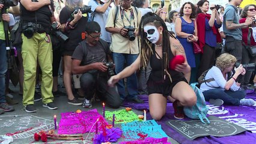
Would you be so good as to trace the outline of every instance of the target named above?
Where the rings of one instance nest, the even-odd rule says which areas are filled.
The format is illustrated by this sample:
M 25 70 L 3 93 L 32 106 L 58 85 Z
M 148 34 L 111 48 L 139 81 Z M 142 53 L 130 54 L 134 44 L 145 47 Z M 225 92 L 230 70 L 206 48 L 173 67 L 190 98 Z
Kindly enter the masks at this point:
M 59 83 L 62 84 L 62 79 L 59 78 Z M 81 110 L 91 110 L 91 109 L 97 109 L 98 112 L 102 112 L 102 104 L 100 102 L 94 102 L 93 107 L 91 109 L 84 109 L 82 106 L 73 106 L 70 104 L 67 104 L 67 96 L 61 96 L 57 97 L 54 100 L 54 103 L 58 106 L 57 110 L 49 110 L 45 107 L 42 107 L 42 102 L 38 101 L 35 102 L 35 107 L 37 108 L 37 113 L 26 113 L 25 110 L 23 110 L 22 106 L 22 96 L 18 95 L 19 92 L 19 86 L 14 87 L 10 84 L 10 88 L 15 92 L 14 99 L 19 101 L 19 104 L 13 105 L 15 108 L 14 112 L 8 112 L 4 113 L 4 115 L 0 115 L 0 142 L 1 142 L 1 135 L 7 134 L 7 133 L 15 133 L 19 130 L 25 130 L 26 128 L 35 128 L 38 126 L 38 124 L 43 124 L 40 128 L 53 128 L 53 115 L 57 115 L 57 121 L 59 121 L 60 113 L 62 112 L 75 112 L 78 109 Z M 64 88 L 60 89 L 61 91 L 65 91 Z M 124 109 L 124 107 L 120 107 L 120 109 Z M 106 110 L 113 111 L 113 110 L 120 110 L 120 109 L 111 109 L 109 107 L 106 107 Z M 142 111 L 133 110 L 136 114 L 141 114 Z M 120 125 L 117 125 L 117 127 Z M 13 143 L 31 143 L 33 142 L 32 134 L 33 132 L 29 133 L 27 131 L 20 134 L 19 137 L 16 137 L 17 139 L 14 139 Z M 88 134 L 84 134 L 84 137 L 87 137 Z M 92 137 L 92 136 L 88 136 Z M 118 140 L 118 142 L 123 141 L 123 139 Z M 89 142 L 82 142 L 82 141 L 55 141 L 51 143 L 89 143 Z M 171 143 L 177 143 L 175 140 L 168 138 L 168 142 Z

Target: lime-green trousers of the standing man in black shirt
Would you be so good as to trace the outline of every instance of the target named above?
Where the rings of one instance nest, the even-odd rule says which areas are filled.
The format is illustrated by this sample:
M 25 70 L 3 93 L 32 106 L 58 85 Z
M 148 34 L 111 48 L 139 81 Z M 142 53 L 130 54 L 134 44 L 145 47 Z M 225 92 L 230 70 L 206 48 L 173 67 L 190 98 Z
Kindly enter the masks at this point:
M 23 106 L 34 104 L 37 59 L 42 71 L 41 95 L 43 103 L 53 101 L 52 95 L 52 43 L 46 33 L 34 33 L 32 38 L 22 34 L 22 58 L 24 67 Z M 48 42 L 47 42 L 48 41 Z

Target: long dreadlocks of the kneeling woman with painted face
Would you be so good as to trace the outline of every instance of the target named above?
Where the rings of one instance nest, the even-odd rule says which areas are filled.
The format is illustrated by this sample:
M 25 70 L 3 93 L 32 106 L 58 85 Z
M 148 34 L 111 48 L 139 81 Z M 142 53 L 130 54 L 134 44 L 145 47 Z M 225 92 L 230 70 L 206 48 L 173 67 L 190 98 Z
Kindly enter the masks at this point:
M 148 23 L 153 24 L 156 28 L 159 26 L 163 27 L 162 32 L 162 69 L 163 69 L 163 79 L 165 79 L 165 74 L 168 74 L 169 79 L 171 80 L 171 76 L 169 75 L 167 68 L 169 67 L 169 56 L 168 53 L 171 53 L 170 49 L 170 41 L 169 37 L 175 38 L 174 35 L 168 32 L 168 29 L 165 25 L 165 22 L 159 17 L 157 14 L 154 13 L 147 13 L 141 18 L 141 23 L 139 23 L 139 35 L 141 40 L 141 62 L 143 67 L 147 67 L 148 62 L 150 61 L 150 56 L 153 54 L 152 46 L 153 44 L 148 41 L 147 35 L 144 32 L 144 26 Z M 171 80 L 172 81 L 172 80 Z

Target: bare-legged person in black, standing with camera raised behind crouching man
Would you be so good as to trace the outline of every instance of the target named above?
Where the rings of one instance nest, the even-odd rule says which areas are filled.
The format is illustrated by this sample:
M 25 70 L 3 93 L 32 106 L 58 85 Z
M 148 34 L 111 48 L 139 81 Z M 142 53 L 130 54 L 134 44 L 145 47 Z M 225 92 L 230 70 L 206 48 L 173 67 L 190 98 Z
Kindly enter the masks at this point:
M 82 0 L 67 0 L 65 7 L 59 13 L 61 30 L 69 37 L 69 40 L 62 44 L 62 49 L 64 49 L 62 52 L 64 60 L 63 81 L 67 91 L 67 103 L 74 106 L 81 106 L 83 103 L 75 98 L 72 92 L 72 55 L 78 43 L 85 37 L 83 32 L 85 25 L 87 25 L 89 12 L 91 12 L 90 7 L 83 5 Z

